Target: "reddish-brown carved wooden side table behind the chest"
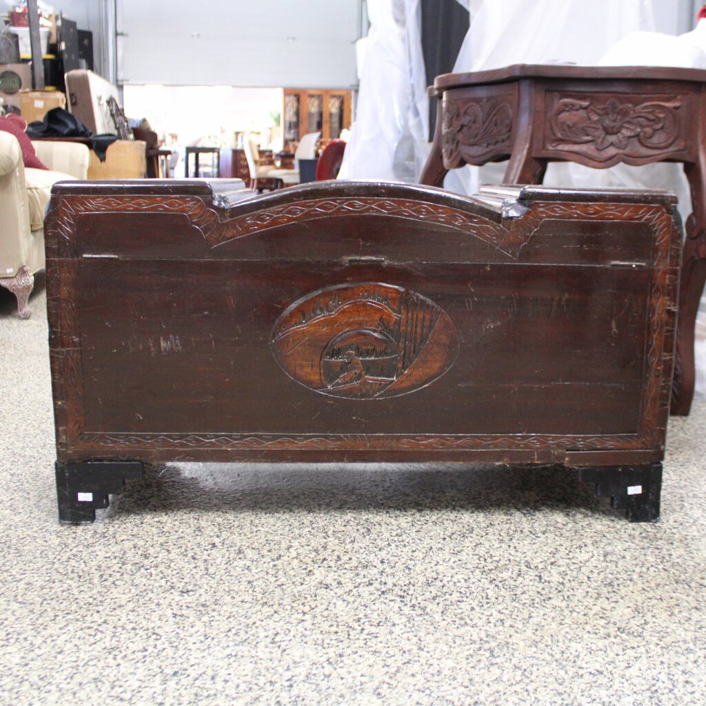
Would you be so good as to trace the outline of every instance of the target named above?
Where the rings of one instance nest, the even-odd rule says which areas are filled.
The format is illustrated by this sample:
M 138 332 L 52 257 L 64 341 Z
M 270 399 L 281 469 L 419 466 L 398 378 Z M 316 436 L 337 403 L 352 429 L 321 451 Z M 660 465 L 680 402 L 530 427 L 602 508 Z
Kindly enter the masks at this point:
M 510 159 L 506 184 L 541 184 L 547 162 L 606 168 L 681 162 L 693 213 L 686 223 L 673 414 L 694 390 L 694 325 L 706 281 L 706 71 L 644 66 L 509 66 L 445 74 L 421 184 L 449 169 Z

